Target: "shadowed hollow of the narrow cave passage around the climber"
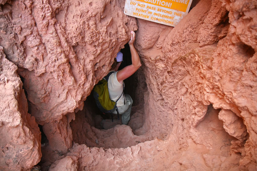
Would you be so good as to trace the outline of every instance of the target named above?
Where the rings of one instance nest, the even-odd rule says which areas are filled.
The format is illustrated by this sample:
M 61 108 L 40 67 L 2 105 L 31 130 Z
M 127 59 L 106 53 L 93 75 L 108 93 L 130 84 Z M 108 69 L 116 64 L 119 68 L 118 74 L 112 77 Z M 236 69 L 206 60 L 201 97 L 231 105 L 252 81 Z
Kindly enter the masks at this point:
M 123 49 L 123 62 L 121 63 L 120 69 L 130 65 L 131 54 L 129 45 L 126 44 Z M 96 106 L 93 90 L 84 102 L 84 108 L 82 111 L 75 113 L 75 120 L 72 120 L 70 126 L 72 128 L 72 138 L 75 143 L 86 144 L 88 147 L 104 147 L 104 148 L 126 148 L 132 145 L 138 144 L 150 140 L 146 136 L 133 137 L 135 135 L 143 135 L 146 132 L 140 130 L 145 122 L 144 116 L 144 94 L 147 94 L 147 85 L 145 82 L 145 76 L 143 73 L 143 67 L 136 71 L 132 76 L 124 80 L 125 89 L 124 94 L 129 94 L 133 99 L 130 121 L 126 130 L 121 131 L 120 135 L 113 139 L 115 129 L 111 129 L 116 125 L 122 125 L 121 115 L 118 120 L 117 115 L 113 114 L 113 122 L 111 114 L 103 114 Z M 101 121 L 102 122 L 101 125 Z M 105 130 L 104 130 L 105 129 Z M 108 131 L 106 131 L 108 130 Z M 122 135 L 123 134 L 123 135 Z M 123 139 L 126 140 L 123 142 Z M 113 143 L 112 141 L 117 141 Z M 120 143 L 118 143 L 121 141 Z

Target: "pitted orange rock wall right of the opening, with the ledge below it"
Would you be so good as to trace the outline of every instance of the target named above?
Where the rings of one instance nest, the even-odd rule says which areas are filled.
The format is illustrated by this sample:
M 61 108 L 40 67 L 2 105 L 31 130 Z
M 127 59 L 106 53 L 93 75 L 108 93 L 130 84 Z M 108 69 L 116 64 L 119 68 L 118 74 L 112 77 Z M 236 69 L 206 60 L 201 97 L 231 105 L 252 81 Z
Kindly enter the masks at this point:
M 141 129 L 155 140 L 67 155 L 86 151 L 87 170 L 256 170 L 255 13 L 253 1 L 212 0 L 174 28 L 138 19 L 149 90 Z

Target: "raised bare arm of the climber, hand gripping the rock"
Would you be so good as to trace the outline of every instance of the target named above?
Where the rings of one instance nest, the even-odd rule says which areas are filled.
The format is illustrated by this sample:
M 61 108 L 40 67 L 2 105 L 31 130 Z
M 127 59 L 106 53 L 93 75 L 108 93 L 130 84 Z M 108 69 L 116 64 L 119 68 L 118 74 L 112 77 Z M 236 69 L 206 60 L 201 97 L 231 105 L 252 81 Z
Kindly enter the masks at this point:
M 128 78 L 132 74 L 134 74 L 138 70 L 138 68 L 141 66 L 138 52 L 136 51 L 136 49 L 134 47 L 134 41 L 136 39 L 136 34 L 134 31 L 130 31 L 130 34 L 132 34 L 132 36 L 130 37 L 130 41 L 128 42 L 128 44 L 129 44 L 129 48 L 130 48 L 132 64 L 129 66 L 126 66 L 125 68 L 123 68 L 117 72 L 117 80 L 119 81 L 120 84 L 122 84 L 123 80 L 125 80 L 126 78 Z

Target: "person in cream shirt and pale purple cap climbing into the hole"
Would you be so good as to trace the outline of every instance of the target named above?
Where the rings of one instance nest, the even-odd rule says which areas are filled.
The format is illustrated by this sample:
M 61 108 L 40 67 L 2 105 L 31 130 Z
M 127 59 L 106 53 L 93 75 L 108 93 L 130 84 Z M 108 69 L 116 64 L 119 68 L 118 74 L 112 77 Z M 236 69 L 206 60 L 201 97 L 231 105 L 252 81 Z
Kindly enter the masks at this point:
M 130 77 L 141 66 L 138 52 L 134 47 L 136 34 L 134 31 L 130 31 L 130 34 L 132 35 L 130 37 L 130 41 L 128 42 L 128 44 L 130 47 L 132 64 L 118 71 L 119 66 L 123 60 L 123 54 L 121 52 L 118 52 L 115 58 L 115 61 L 112 64 L 112 68 L 109 71 L 109 72 L 111 71 L 115 71 L 115 72 L 112 73 L 108 79 L 108 91 L 109 91 L 110 99 L 112 99 L 113 101 L 116 101 L 120 97 L 119 100 L 117 101 L 117 108 L 118 108 L 119 114 L 122 114 L 121 121 L 122 121 L 122 124 L 124 125 L 127 125 L 129 122 L 133 100 L 129 94 L 124 95 L 123 80 Z M 117 111 L 114 111 L 113 113 L 117 114 Z

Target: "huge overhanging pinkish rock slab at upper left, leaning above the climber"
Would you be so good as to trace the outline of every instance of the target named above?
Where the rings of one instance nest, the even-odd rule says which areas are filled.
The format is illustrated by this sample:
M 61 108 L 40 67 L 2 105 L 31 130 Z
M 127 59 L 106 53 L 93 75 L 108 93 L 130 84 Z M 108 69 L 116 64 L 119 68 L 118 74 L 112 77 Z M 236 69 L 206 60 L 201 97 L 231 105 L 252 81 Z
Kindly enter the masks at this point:
M 121 5 L 118 1 L 2 5 L 1 45 L 19 67 L 30 112 L 38 123 L 60 120 L 83 108 L 94 84 L 129 40 L 129 30 L 137 29 Z

